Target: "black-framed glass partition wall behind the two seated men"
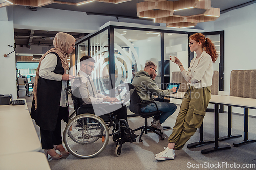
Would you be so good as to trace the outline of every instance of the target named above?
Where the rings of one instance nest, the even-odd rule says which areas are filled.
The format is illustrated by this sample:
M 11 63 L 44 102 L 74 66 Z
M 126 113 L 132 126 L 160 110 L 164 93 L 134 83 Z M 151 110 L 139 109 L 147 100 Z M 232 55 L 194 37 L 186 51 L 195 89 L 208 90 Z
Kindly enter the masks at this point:
M 124 83 L 131 83 L 135 72 L 143 70 L 145 62 L 153 61 L 157 65 L 156 83 L 165 89 L 164 85 L 170 82 L 172 72 L 180 71 L 176 64 L 169 61 L 169 57 L 178 57 L 186 70 L 194 57 L 188 47 L 191 34 L 193 33 L 110 25 L 77 42 L 76 68 L 77 71 L 80 69 L 79 60 L 83 55 L 92 56 L 96 61 L 92 78 L 98 92 L 123 99 L 127 94 Z M 223 34 L 217 36 L 223 40 Z M 223 49 L 218 48 L 217 43 L 216 48 L 218 52 Z M 219 62 L 223 64 L 220 59 L 216 63 Z M 215 70 L 219 68 L 217 65 L 214 66 Z

